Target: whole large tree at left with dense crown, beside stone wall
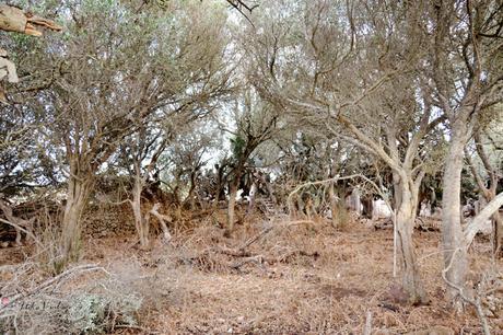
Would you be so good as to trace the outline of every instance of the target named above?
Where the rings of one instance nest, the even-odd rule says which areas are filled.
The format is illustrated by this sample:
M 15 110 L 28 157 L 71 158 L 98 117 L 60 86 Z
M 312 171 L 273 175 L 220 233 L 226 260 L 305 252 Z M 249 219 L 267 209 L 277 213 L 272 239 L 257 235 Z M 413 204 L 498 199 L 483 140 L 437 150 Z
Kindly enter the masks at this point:
M 179 3 L 169 15 L 101 0 L 69 3 L 63 35 L 43 45 L 42 65 L 56 68 L 56 79 L 31 106 L 45 112 L 44 135 L 66 170 L 63 261 L 78 252 L 94 176 L 124 139 L 153 114 L 201 108 L 226 90 L 224 15 Z

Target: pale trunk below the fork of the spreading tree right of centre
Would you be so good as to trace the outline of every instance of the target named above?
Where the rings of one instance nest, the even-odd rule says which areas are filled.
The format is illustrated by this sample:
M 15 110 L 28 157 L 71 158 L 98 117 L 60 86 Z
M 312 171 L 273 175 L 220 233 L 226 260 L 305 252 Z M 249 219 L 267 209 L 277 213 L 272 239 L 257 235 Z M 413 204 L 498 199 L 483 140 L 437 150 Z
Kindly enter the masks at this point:
M 403 290 L 409 296 L 409 302 L 426 303 L 428 297 L 416 259 L 414 245 L 412 241 L 412 233 L 416 221 L 417 209 L 417 189 L 414 189 L 413 182 L 401 181 L 399 183 L 399 207 L 397 209 L 397 232 L 398 232 L 398 247 L 401 256 L 402 267 L 402 286 Z

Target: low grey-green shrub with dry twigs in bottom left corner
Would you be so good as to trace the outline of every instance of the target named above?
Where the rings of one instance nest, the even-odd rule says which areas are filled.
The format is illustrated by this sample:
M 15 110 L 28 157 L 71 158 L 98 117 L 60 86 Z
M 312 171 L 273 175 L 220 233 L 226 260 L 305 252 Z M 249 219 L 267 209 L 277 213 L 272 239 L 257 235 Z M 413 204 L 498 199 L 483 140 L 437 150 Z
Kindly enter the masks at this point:
M 144 296 L 130 282 L 96 280 L 94 287 L 26 297 L 2 314 L 0 334 L 107 334 L 117 325 L 137 325 Z

